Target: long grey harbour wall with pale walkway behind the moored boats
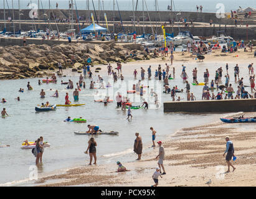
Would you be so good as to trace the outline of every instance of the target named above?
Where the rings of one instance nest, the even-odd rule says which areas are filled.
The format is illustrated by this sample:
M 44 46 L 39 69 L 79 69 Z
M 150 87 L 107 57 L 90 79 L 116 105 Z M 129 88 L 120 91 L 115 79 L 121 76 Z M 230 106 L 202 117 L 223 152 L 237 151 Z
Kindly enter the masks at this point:
M 3 10 L 0 9 L 2 13 Z M 83 29 L 89 25 L 88 13 L 96 13 L 97 21 L 95 23 L 99 25 L 106 26 L 105 18 L 103 12 L 98 11 L 82 11 L 78 10 L 74 13 L 74 16 L 78 15 L 80 17 L 79 21 L 74 17 L 73 24 L 71 22 L 58 22 L 55 19 L 70 19 L 70 10 L 63 9 L 51 9 L 50 18 L 45 17 L 45 13 L 49 15 L 47 10 L 39 10 L 39 18 L 31 19 L 29 17 L 29 9 L 22 10 L 21 21 L 19 21 L 19 10 L 14 9 L 14 20 L 11 22 L 6 22 L 7 30 L 19 30 L 21 27 L 24 31 L 29 31 L 34 29 L 45 30 L 49 25 L 53 30 L 59 30 L 60 32 L 65 32 L 67 29 L 73 28 Z M 115 21 L 113 20 L 113 11 L 104 11 L 108 17 L 108 29 L 113 32 L 115 26 L 115 32 L 134 32 L 137 35 L 148 33 L 151 34 L 152 30 L 156 34 L 162 34 L 161 25 L 166 22 L 166 32 L 174 33 L 177 35 L 181 30 L 189 30 L 193 35 L 199 35 L 204 37 L 211 37 L 212 35 L 217 35 L 217 31 L 224 30 L 227 35 L 230 35 L 234 39 L 254 39 L 256 34 L 256 16 L 253 14 L 249 19 L 244 19 L 242 14 L 237 18 L 237 25 L 235 25 L 234 19 L 218 19 L 216 13 L 208 12 L 171 12 L 171 11 L 148 11 L 143 14 L 142 11 L 120 11 L 120 14 L 115 15 Z M 120 19 L 121 16 L 121 19 Z M 141 19 L 144 16 L 144 21 Z M 7 17 L 7 16 L 6 16 Z M 184 27 L 182 22 L 179 22 L 181 18 L 187 20 L 189 26 Z M 6 18 L 7 19 L 7 18 Z M 133 21 L 135 19 L 135 21 Z M 139 19 L 137 21 L 137 19 Z M 174 24 L 169 24 L 170 21 L 174 21 Z M 133 21 L 133 22 L 132 22 Z M 191 25 L 191 21 L 193 25 Z M 212 21 L 212 25 L 209 25 L 209 21 Z M 248 25 L 248 26 L 247 26 Z M 0 16 L 0 29 L 4 28 L 4 17 Z

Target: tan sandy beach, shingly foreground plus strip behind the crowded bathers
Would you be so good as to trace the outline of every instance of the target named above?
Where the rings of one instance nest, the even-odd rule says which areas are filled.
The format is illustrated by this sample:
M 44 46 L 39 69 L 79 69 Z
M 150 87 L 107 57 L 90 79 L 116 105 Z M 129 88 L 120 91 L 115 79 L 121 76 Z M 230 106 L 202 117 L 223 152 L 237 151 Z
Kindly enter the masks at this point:
M 216 62 L 239 63 L 247 70 L 247 63 L 254 62 L 253 52 L 227 53 L 214 50 L 206 55 L 203 64 Z M 239 57 L 235 57 L 239 55 Z M 181 63 L 195 63 L 196 56 L 174 53 L 174 66 Z M 140 69 L 140 63 L 149 65 L 163 65 L 167 60 L 156 58 L 153 60 L 138 61 L 137 67 L 130 63 L 123 64 L 123 74 L 127 75 Z M 246 66 L 245 66 L 246 65 Z M 127 66 L 127 67 L 126 67 Z M 216 68 L 219 65 L 216 65 Z M 102 67 L 100 74 L 105 73 Z M 230 73 L 234 73 L 233 71 Z M 240 115 L 242 113 L 239 113 Z M 220 114 L 224 116 L 225 114 Z M 230 114 L 230 115 L 235 115 Z M 255 116 L 255 113 L 244 113 L 245 116 Z M 225 173 L 227 165 L 223 153 L 225 150 L 225 136 L 230 136 L 234 143 L 237 160 L 234 162 L 235 172 Z M 180 129 L 173 136 L 163 141 L 165 149 L 164 167 L 166 175 L 159 178 L 159 186 L 255 186 L 256 185 L 256 136 L 254 124 L 225 124 L 216 121 L 204 126 Z M 157 167 L 158 147 L 142 155 L 142 160 L 122 162 L 130 172 L 116 173 L 116 165 L 85 165 L 69 170 L 66 174 L 52 175 L 41 178 L 36 186 L 146 186 L 153 185 L 152 175 Z M 136 159 L 136 154 L 134 155 Z M 211 184 L 206 184 L 211 179 Z

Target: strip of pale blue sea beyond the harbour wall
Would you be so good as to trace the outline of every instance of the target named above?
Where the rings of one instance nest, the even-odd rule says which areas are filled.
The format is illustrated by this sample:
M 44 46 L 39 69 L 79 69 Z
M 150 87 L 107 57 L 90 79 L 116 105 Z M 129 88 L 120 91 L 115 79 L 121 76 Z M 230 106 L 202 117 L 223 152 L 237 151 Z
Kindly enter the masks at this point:
M 6 9 L 9 6 L 9 9 L 12 9 L 12 1 L 11 0 L 1 0 L 6 1 Z M 134 1 L 134 5 L 136 6 L 136 0 L 94 0 L 95 9 L 98 10 L 112 10 L 113 9 L 113 2 L 115 2 L 115 10 L 120 11 L 131 11 L 133 9 L 132 4 Z M 29 9 L 27 5 L 29 2 L 38 3 L 38 0 L 20 0 L 20 7 L 21 9 Z M 69 0 L 50 0 L 50 8 L 54 9 L 56 2 L 59 4 L 60 9 L 69 9 Z M 73 3 L 79 10 L 87 9 L 87 0 L 73 0 Z M 203 12 L 216 12 L 216 5 L 218 3 L 223 3 L 225 6 L 225 11 L 230 12 L 230 10 L 237 10 L 239 6 L 242 8 L 246 7 L 256 7 L 255 0 L 174 0 L 174 11 L 196 11 L 196 5 L 203 7 Z M 44 9 L 49 8 L 49 0 L 39 0 L 40 7 Z M 100 6 L 99 6 L 100 5 Z M 159 11 L 167 11 L 168 5 L 171 5 L 171 0 L 146 0 L 146 6 L 148 7 L 149 11 L 155 11 L 156 9 Z M 89 1 L 90 9 L 93 9 L 92 1 Z M 146 11 L 145 6 L 145 11 Z M 3 8 L 3 4 L 1 2 L 0 5 Z M 18 8 L 18 1 L 14 1 L 14 8 Z M 75 7 L 74 7 L 75 8 Z M 143 1 L 138 0 L 138 8 L 139 11 L 143 9 Z

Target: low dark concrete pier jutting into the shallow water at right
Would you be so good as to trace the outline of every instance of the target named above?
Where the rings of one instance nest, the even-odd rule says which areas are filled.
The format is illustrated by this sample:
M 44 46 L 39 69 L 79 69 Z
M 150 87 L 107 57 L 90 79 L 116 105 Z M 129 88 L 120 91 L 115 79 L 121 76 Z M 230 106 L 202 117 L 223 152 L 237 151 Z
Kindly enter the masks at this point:
M 256 99 L 223 99 L 198 101 L 168 101 L 164 103 L 164 112 L 256 112 Z

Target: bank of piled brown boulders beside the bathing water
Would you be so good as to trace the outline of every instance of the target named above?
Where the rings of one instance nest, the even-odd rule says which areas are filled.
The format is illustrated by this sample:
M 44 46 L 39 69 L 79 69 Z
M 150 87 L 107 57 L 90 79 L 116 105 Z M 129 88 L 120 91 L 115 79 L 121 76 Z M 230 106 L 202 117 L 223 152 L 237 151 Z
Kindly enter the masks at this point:
M 63 69 L 70 68 L 72 72 L 81 72 L 81 66 L 87 63 L 89 57 L 92 65 L 107 65 L 111 62 L 148 60 L 152 56 L 147 55 L 141 45 L 135 44 L 6 46 L 0 47 L 0 79 L 44 77 L 58 71 L 58 62 L 62 63 Z M 78 64 L 73 64 L 74 62 Z

